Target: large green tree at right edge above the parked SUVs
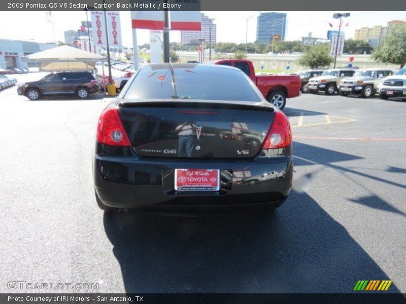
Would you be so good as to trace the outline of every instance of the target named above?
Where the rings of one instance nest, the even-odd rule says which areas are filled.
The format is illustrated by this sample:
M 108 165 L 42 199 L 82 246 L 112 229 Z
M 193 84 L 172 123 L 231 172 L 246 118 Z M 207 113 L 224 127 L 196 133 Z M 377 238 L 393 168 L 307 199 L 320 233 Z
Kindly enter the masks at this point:
M 371 58 L 383 63 L 399 64 L 402 68 L 406 64 L 406 26 L 390 29 L 384 45 Z

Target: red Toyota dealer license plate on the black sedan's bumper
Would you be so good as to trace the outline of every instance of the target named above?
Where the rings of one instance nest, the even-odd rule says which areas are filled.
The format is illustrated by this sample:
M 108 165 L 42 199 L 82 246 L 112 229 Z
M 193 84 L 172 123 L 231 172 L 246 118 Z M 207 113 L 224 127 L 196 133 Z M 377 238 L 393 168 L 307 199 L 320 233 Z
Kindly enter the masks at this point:
M 175 169 L 176 191 L 219 191 L 220 170 Z

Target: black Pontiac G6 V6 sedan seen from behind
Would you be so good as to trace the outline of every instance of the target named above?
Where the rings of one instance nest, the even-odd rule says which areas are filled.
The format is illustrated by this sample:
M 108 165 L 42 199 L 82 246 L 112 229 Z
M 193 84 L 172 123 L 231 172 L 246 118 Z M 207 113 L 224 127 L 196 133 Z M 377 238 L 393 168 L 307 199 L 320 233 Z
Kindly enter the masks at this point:
M 147 65 L 100 115 L 96 201 L 106 211 L 279 207 L 291 144 L 286 116 L 241 70 Z

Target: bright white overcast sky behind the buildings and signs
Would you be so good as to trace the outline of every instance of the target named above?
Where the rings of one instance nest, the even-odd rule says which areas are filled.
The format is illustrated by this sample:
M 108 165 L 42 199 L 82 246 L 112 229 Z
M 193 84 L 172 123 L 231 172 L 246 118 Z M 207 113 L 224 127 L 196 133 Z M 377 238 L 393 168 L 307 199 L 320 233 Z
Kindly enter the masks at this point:
M 259 12 L 204 12 L 215 18 L 217 24 L 217 42 L 245 43 L 246 24 L 248 20 L 248 42 L 256 40 L 256 17 Z M 338 29 L 338 20 L 333 19 L 334 12 L 282 12 L 287 13 L 286 40 L 300 40 L 302 36 L 326 38 L 327 30 Z M 350 12 L 344 27 L 346 39 L 354 38 L 355 29 L 386 25 L 388 21 L 399 19 L 406 21 L 406 12 Z M 120 12 L 122 43 L 132 46 L 130 12 Z M 31 40 L 36 42 L 54 42 L 52 26 L 47 22 L 45 12 L 0 12 L 3 26 L 0 39 Z M 25 20 L 26 22 L 22 22 Z M 64 41 L 63 31 L 80 27 L 86 20 L 85 12 L 52 12 L 56 41 Z M 89 19 L 90 20 L 90 19 Z M 330 27 L 328 23 L 334 26 Z M 139 45 L 149 42 L 149 31 L 137 30 Z M 171 42 L 180 42 L 180 31 L 170 34 Z

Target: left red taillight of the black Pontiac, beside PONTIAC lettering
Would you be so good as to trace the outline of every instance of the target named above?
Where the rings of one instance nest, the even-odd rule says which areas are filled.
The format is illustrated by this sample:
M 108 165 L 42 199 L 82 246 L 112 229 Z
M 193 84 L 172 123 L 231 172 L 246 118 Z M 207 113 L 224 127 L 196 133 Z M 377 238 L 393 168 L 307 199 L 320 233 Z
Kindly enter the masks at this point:
M 131 146 L 116 107 L 107 108 L 101 113 L 97 124 L 97 141 L 113 146 Z

